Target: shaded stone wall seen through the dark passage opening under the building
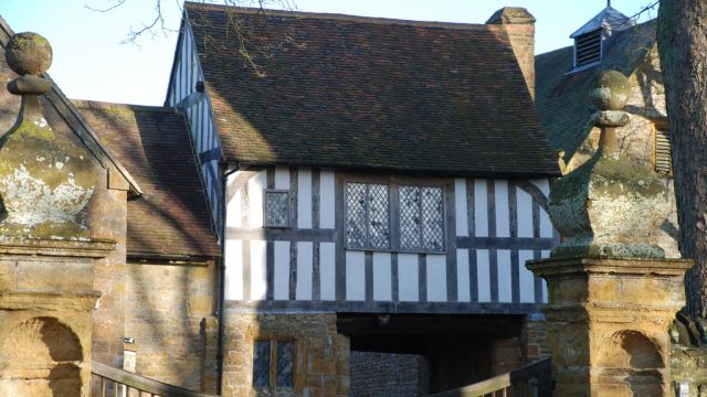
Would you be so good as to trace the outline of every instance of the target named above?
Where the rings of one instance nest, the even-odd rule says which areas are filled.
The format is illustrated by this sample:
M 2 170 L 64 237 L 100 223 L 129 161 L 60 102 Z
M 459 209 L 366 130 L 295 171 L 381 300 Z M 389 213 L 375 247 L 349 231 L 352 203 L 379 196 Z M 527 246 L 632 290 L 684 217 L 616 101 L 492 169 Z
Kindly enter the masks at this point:
M 412 397 L 425 389 L 422 355 L 351 352 L 350 397 Z

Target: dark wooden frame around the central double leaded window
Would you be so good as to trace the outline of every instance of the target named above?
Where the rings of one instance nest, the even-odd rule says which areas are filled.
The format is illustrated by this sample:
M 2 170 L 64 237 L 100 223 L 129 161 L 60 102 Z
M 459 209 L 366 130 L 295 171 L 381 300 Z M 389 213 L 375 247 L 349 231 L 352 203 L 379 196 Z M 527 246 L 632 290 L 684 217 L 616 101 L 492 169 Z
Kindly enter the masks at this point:
M 351 247 L 349 246 L 348 238 L 346 236 L 348 229 L 348 197 L 347 185 L 349 183 L 362 183 L 362 184 L 381 184 L 388 186 L 388 225 L 389 225 L 389 248 L 376 248 L 376 247 Z M 351 251 L 379 251 L 379 253 L 401 253 L 401 254 L 450 254 L 447 253 L 446 240 L 451 238 L 447 236 L 447 192 L 446 183 L 442 180 L 433 180 L 428 178 L 415 176 L 395 176 L 395 175 L 363 175 L 357 174 L 355 176 L 347 175 L 342 179 L 342 195 L 344 195 L 344 211 L 342 211 L 342 227 L 344 227 L 344 247 Z M 428 249 L 420 247 L 416 249 L 403 249 L 400 240 L 400 187 L 437 187 L 442 192 L 442 247 L 439 250 Z

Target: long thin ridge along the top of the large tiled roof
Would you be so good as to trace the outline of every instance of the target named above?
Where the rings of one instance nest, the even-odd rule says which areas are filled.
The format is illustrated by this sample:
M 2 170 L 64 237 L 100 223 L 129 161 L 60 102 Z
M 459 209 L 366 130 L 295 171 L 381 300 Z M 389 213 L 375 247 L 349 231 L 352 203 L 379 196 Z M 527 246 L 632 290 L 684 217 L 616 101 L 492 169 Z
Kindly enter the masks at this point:
M 351 14 L 342 14 L 342 13 L 261 9 L 261 8 L 252 8 L 252 7 L 233 7 L 233 6 L 184 1 L 184 9 L 193 8 L 193 9 L 209 10 L 209 11 L 221 11 L 228 7 L 232 7 L 238 12 L 244 13 L 244 14 L 257 14 L 261 12 L 266 12 L 267 15 L 276 15 L 276 17 L 289 17 L 289 18 L 300 18 L 300 19 L 323 19 L 323 20 L 333 20 L 333 21 L 404 25 L 404 26 L 416 26 L 416 28 L 476 30 L 476 29 L 489 29 L 490 26 L 500 26 L 497 24 L 484 24 L 484 23 L 414 21 L 414 20 L 403 20 L 403 19 L 394 19 L 394 18 L 382 18 L 382 17 L 363 17 L 363 15 L 351 15 Z M 503 29 L 503 26 L 494 28 L 494 29 Z

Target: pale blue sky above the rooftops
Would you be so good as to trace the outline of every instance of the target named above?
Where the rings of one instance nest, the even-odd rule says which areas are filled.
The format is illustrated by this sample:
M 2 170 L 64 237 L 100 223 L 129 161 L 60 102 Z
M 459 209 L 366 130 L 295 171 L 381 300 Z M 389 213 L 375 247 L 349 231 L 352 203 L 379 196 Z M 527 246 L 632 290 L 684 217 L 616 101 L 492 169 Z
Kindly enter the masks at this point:
M 54 62 L 49 73 L 68 97 L 161 105 L 177 34 L 148 34 L 138 41 L 138 45 L 120 44 L 131 26 L 140 28 L 151 20 L 156 1 L 126 0 L 106 13 L 86 8 L 106 8 L 117 1 L 0 0 L 0 15 L 15 32 L 33 31 L 50 40 Z M 537 19 L 537 53 L 571 45 L 569 34 L 606 6 L 605 0 L 288 1 L 294 1 L 298 11 L 463 23 L 484 23 L 495 10 L 505 6 L 525 7 Z M 653 2 L 613 0 L 612 7 L 633 15 Z M 180 3 L 181 0 L 162 0 L 166 25 L 171 30 L 179 28 Z M 657 8 L 644 13 L 641 21 L 655 18 Z

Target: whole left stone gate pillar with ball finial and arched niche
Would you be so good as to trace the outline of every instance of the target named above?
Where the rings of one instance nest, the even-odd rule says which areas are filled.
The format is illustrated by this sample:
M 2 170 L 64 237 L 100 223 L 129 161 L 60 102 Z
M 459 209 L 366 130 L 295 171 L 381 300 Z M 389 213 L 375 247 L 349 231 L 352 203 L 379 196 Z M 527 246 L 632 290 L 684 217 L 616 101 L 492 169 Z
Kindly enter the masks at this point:
M 46 40 L 15 34 L 15 125 L 0 136 L 0 396 L 89 396 L 94 265 L 115 243 L 89 238 L 99 169 L 49 126 L 39 96 L 51 81 Z

